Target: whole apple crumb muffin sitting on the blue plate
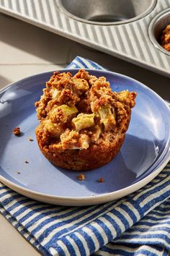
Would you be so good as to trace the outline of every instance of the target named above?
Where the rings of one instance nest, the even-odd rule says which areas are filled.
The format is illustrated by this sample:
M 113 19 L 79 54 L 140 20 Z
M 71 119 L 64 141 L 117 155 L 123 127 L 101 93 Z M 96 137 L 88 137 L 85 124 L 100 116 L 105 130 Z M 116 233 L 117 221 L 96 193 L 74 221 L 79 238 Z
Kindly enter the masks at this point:
M 48 160 L 76 171 L 103 166 L 125 140 L 136 93 L 112 92 L 105 77 L 54 72 L 37 107 L 37 143 Z

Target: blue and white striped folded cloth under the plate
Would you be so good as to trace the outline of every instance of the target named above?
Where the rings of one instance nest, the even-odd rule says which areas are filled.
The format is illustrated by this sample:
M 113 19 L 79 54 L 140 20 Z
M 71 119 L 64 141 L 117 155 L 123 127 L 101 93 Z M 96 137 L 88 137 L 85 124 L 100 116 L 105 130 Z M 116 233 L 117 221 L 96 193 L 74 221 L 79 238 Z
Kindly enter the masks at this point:
M 104 69 L 79 56 L 75 67 Z M 169 255 L 170 163 L 137 192 L 88 207 L 48 205 L 0 183 L 0 211 L 42 255 Z

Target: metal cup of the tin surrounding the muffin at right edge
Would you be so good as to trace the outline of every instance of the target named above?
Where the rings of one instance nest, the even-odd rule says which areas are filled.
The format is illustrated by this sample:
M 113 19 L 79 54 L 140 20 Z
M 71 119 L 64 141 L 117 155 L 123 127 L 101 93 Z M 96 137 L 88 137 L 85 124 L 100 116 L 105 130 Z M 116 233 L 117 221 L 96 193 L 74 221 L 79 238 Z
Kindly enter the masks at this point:
M 170 8 L 156 15 L 148 27 L 149 37 L 156 48 L 170 56 L 170 52 L 161 46 L 161 34 L 167 25 L 170 24 Z

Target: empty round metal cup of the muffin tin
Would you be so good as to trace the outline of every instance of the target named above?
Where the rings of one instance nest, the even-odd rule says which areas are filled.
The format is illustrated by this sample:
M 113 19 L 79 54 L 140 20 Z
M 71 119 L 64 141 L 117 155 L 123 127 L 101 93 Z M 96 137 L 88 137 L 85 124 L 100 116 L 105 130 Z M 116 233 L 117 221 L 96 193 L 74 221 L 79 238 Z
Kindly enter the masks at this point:
M 68 17 L 94 25 L 117 25 L 138 20 L 156 6 L 156 0 L 58 0 Z

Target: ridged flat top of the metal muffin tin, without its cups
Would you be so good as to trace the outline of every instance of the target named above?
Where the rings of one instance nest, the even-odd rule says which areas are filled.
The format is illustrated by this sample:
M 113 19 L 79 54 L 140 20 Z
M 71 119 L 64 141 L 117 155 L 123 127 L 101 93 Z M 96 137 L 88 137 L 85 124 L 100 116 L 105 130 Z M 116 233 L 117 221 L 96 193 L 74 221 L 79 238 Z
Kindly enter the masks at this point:
M 148 36 L 148 26 L 170 0 L 157 0 L 156 7 L 140 20 L 121 25 L 91 25 L 68 17 L 56 0 L 0 0 L 0 12 L 45 30 L 76 40 L 140 67 L 170 77 L 170 56 L 159 51 Z

